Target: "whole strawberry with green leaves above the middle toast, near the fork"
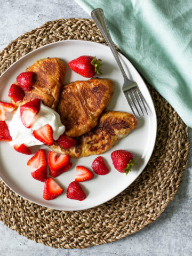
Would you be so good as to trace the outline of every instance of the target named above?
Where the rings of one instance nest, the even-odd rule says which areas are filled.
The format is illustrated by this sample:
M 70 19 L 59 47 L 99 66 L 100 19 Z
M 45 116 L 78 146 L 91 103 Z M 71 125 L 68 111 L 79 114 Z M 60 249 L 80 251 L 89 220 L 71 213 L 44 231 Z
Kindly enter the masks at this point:
M 71 60 L 69 68 L 81 76 L 93 77 L 95 73 L 102 74 L 99 69 L 102 66 L 101 61 L 101 59 L 97 60 L 96 57 L 83 55 L 75 60 Z

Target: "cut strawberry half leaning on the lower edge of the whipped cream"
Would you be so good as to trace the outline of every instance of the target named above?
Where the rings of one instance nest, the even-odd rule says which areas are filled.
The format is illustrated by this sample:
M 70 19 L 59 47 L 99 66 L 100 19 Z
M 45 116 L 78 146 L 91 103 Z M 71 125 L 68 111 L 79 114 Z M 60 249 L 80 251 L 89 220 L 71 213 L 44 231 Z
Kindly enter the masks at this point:
M 33 131 L 35 139 L 43 142 L 47 146 L 51 146 L 54 143 L 53 130 L 49 124 L 44 125 L 38 130 Z

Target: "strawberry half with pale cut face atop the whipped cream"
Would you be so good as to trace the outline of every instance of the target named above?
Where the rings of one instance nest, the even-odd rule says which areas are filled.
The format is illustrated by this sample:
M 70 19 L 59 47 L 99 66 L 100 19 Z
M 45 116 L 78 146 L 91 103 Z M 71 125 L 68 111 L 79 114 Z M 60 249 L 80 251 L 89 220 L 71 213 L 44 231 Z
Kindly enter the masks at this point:
M 41 100 L 35 99 L 23 104 L 20 107 L 21 122 L 26 128 L 30 128 L 33 124 L 34 117 L 39 111 Z

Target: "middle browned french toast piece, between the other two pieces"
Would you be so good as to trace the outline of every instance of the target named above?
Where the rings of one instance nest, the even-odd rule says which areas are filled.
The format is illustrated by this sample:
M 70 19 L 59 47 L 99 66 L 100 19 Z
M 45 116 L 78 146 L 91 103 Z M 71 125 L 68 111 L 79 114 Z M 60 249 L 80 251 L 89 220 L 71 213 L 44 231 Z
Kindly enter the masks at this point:
M 91 78 L 75 81 L 61 88 L 58 113 L 66 126 L 65 134 L 78 137 L 98 124 L 114 92 L 114 82 L 109 79 Z

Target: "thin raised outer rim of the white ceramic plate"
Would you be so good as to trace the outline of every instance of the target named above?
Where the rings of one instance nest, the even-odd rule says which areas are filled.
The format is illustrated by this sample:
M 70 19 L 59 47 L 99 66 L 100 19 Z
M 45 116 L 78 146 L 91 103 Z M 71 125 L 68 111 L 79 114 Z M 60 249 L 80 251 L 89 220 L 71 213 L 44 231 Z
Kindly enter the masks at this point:
M 77 43 L 77 42 L 82 42 L 82 43 L 88 43 L 88 44 L 92 43 L 92 44 L 99 44 L 99 45 L 102 45 L 102 46 L 106 46 L 106 47 L 109 48 L 108 45 L 104 45 L 104 44 L 102 44 L 102 43 L 97 43 L 97 42 L 94 42 L 94 41 L 84 41 L 84 40 L 78 40 L 78 39 L 66 39 L 66 40 L 62 40 L 62 41 L 57 41 L 57 42 L 53 42 L 53 43 L 48 43 L 48 44 L 46 44 L 46 45 L 43 45 L 43 46 L 38 47 L 38 48 L 35 49 L 35 50 L 32 50 L 32 51 L 28 52 L 27 54 L 25 54 L 25 55 L 23 55 L 21 58 L 19 58 L 17 61 L 15 61 L 14 63 L 12 63 L 12 65 L 11 65 L 9 68 L 7 68 L 7 69 L 1 74 L 1 76 L 0 76 L 0 83 L 1 83 L 2 77 L 7 73 L 7 71 L 9 71 L 13 66 L 17 65 L 17 63 L 20 62 L 23 58 L 26 58 L 28 55 L 30 55 L 30 54 L 32 54 L 32 53 L 34 53 L 34 52 L 36 52 L 36 51 L 39 51 L 39 50 L 41 50 L 41 49 L 43 49 L 43 48 L 45 48 L 45 47 L 48 47 L 48 46 L 51 46 L 51 45 L 56 45 L 56 44 L 59 44 L 59 43 L 62 44 L 62 43 L 65 43 L 65 42 L 76 42 L 76 43 Z M 111 54 L 112 54 L 112 53 L 111 53 Z M 150 158 L 151 158 L 151 155 L 153 154 L 154 147 L 155 147 L 155 142 L 156 142 L 156 138 L 157 138 L 157 115 L 156 115 L 156 110 L 155 110 L 155 106 L 154 106 L 154 101 L 153 101 L 153 99 L 152 99 L 152 97 L 151 97 L 151 94 L 150 94 L 150 92 L 149 92 L 149 90 L 148 90 L 148 87 L 147 87 L 145 81 L 143 80 L 142 76 L 140 75 L 139 71 L 138 71 L 138 70 L 134 67 L 134 65 L 132 64 L 132 62 L 131 62 L 127 57 L 125 57 L 125 55 L 124 55 L 123 53 L 118 52 L 118 54 L 119 54 L 121 57 L 126 58 L 126 60 L 127 60 L 127 61 L 129 62 L 129 64 L 132 66 L 132 68 L 134 69 L 134 71 L 137 72 L 137 74 L 139 75 L 139 77 L 142 79 L 142 82 L 143 82 L 143 83 L 145 84 L 145 86 L 146 86 L 146 90 L 147 90 L 148 93 L 149 93 L 149 96 L 150 96 L 151 102 L 153 103 L 153 108 L 154 108 L 153 115 L 154 115 L 154 117 L 155 117 L 155 118 L 154 118 L 154 120 L 155 120 L 155 122 L 154 122 L 154 125 L 155 125 L 155 127 L 154 127 L 155 138 L 154 138 L 154 142 L 153 142 L 153 147 L 151 146 L 151 150 L 150 150 L 150 154 L 149 154 L 149 155 L 150 155 L 150 156 L 149 156 L 149 159 L 148 159 L 148 161 L 146 162 L 146 164 L 143 165 L 142 171 L 140 171 L 137 175 L 135 175 L 135 179 L 130 183 L 130 185 L 128 185 L 126 188 L 123 188 L 121 191 L 119 191 L 119 193 L 116 194 L 116 196 L 118 196 L 119 194 L 122 193 L 122 191 L 124 191 L 124 190 L 127 189 L 129 186 L 131 186 L 132 183 L 133 183 L 133 182 L 139 177 L 139 175 L 143 172 L 143 170 L 145 169 L 145 167 L 147 166 L 147 164 L 148 164 L 148 162 L 149 162 L 149 160 L 150 160 Z M 115 59 L 114 59 L 114 61 L 115 61 Z M 1 168 L 1 166 L 0 166 L 0 168 Z M 29 202 L 31 202 L 31 203 L 37 204 L 37 205 L 39 205 L 39 206 L 46 207 L 47 209 L 53 209 L 53 210 L 59 210 L 59 211 L 82 211 L 82 210 L 93 209 L 93 207 L 97 207 L 97 206 L 100 206 L 100 205 L 102 205 L 102 204 L 105 204 L 105 203 L 107 203 L 108 201 L 110 201 L 111 199 L 113 199 L 114 197 L 116 197 L 116 196 L 111 197 L 111 198 L 109 198 L 107 201 L 102 202 L 102 203 L 100 203 L 100 204 L 96 203 L 96 204 L 94 204 L 94 205 L 91 206 L 91 207 L 82 207 L 82 208 L 80 207 L 81 209 L 79 209 L 79 210 L 63 210 L 63 209 L 58 208 L 58 207 L 46 206 L 46 205 L 44 205 L 44 204 L 40 204 L 40 203 L 34 202 L 33 200 L 29 200 L 27 197 L 20 195 L 20 194 L 17 193 L 13 188 L 11 188 L 11 186 L 9 186 L 9 185 L 6 183 L 6 181 L 1 177 L 1 175 L 0 175 L 0 178 L 1 178 L 1 180 L 5 183 L 5 185 L 6 185 L 7 187 L 9 187 L 9 188 L 10 188 L 15 194 L 17 194 L 18 196 L 20 196 L 20 197 L 26 199 L 27 201 L 29 201 Z

